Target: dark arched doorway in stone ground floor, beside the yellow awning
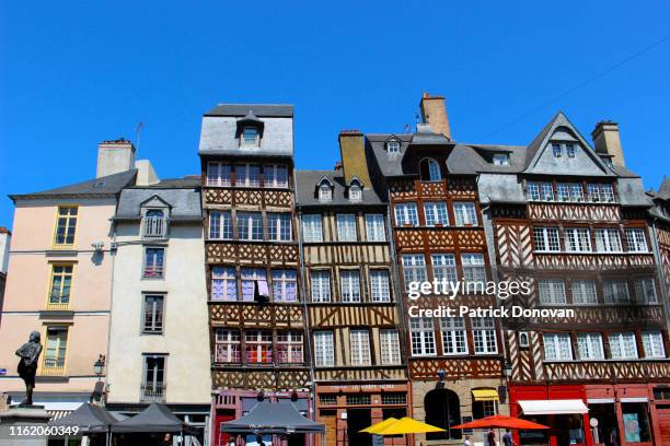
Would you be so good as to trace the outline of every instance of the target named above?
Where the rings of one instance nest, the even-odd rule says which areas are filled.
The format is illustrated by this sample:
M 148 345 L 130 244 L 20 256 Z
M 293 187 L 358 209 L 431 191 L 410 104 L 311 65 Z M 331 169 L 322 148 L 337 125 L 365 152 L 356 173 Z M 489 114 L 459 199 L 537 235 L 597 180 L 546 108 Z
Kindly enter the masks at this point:
M 424 398 L 426 423 L 442 427 L 446 432 L 426 434 L 426 439 L 461 439 L 461 430 L 450 426 L 461 423 L 459 396 L 449 389 L 435 389 Z

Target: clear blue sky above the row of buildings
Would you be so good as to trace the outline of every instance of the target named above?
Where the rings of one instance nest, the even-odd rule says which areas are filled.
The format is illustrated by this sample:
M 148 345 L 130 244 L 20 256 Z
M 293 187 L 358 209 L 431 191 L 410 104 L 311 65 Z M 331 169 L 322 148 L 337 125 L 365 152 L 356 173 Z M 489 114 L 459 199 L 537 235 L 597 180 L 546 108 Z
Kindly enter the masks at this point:
M 563 109 L 587 138 L 619 121 L 647 188 L 670 174 L 669 40 L 506 126 L 670 35 L 667 1 L 102 3 L 0 5 L 0 225 L 7 193 L 93 177 L 139 121 L 139 157 L 196 174 L 221 102 L 294 104 L 300 168 L 331 168 L 340 129 L 401 132 L 429 91 L 458 141 L 527 144 Z

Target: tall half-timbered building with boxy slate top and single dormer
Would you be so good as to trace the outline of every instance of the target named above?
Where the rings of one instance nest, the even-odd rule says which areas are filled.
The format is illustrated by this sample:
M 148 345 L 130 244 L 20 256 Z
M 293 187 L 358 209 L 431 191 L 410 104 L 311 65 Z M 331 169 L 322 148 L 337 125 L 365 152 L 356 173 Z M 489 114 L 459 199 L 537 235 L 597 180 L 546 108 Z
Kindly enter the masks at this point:
M 212 444 L 223 445 L 220 423 L 241 416 L 258 398 L 290 398 L 309 411 L 292 106 L 215 107 L 203 117 L 199 155 Z

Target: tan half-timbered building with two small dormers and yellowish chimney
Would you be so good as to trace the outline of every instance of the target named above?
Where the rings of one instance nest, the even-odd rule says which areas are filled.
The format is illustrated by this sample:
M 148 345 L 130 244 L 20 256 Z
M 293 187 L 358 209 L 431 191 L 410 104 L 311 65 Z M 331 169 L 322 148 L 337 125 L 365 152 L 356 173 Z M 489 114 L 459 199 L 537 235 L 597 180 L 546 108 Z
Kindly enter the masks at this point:
M 316 420 L 328 446 L 371 444 L 359 431 L 407 415 L 386 203 L 370 180 L 362 133 L 339 136 L 335 171 L 298 171 L 298 210 Z M 388 438 L 386 445 L 405 444 Z

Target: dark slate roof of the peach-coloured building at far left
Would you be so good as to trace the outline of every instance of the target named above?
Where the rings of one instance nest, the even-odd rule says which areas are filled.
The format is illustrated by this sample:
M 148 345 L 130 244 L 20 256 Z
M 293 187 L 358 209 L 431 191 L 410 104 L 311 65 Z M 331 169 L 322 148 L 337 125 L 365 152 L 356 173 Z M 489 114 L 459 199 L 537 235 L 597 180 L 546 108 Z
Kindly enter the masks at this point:
M 100 178 L 88 179 L 73 185 L 57 187 L 32 193 L 21 193 L 9 196 L 13 201 L 30 200 L 37 198 L 68 198 L 68 197 L 113 197 L 120 192 L 124 187 L 135 183 L 137 169 L 107 175 Z

